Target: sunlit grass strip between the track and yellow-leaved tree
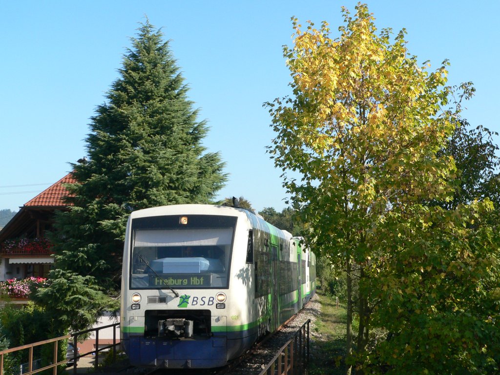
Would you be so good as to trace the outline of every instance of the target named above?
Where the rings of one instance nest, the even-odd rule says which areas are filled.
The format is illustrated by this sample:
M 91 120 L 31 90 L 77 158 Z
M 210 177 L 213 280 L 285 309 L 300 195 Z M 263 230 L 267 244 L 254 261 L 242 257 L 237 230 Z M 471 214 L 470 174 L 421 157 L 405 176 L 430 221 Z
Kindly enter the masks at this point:
M 309 375 L 340 375 L 345 373 L 345 330 L 347 312 L 345 306 L 337 309 L 335 297 L 317 292 L 321 314 L 311 330 L 311 357 Z

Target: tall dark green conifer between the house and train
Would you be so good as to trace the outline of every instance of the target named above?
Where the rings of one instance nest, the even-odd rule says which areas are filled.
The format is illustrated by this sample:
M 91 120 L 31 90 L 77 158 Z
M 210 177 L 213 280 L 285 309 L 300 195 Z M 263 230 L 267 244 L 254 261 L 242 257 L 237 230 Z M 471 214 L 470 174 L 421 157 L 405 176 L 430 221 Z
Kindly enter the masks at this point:
M 206 153 L 201 145 L 208 127 L 197 120 L 198 111 L 187 99 L 188 87 L 162 36 L 149 21 L 141 24 L 107 101 L 91 117 L 88 161 L 72 164 L 78 181 L 67 186 L 72 207 L 60 212 L 54 225 L 58 269 L 52 272 L 51 285 L 37 296 L 49 308 L 57 309 L 72 297 L 67 285 L 63 290 L 68 298 L 55 293 L 62 279 L 85 283 L 75 290 L 79 287 L 86 295 L 95 290 L 101 301 L 102 292 L 118 294 L 125 223 L 132 210 L 208 203 L 226 180 L 219 154 Z M 73 328 L 89 324 L 106 307 L 104 302 L 99 306 L 90 313 L 75 312 L 66 321 Z

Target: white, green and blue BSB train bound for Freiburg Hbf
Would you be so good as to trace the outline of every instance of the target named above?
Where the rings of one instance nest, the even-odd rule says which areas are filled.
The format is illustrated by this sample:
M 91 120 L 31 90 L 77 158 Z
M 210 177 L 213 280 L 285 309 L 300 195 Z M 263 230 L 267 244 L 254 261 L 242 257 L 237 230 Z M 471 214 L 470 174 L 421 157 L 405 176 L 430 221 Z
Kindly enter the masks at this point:
M 120 312 L 130 364 L 226 365 L 312 297 L 315 264 L 300 237 L 245 208 L 178 204 L 131 212 Z

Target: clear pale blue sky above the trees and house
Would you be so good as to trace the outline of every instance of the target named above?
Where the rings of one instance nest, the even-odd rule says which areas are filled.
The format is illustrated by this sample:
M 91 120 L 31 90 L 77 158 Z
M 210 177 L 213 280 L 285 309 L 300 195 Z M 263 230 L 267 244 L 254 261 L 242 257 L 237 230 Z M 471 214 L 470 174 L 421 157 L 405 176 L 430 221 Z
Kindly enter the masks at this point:
M 354 12 L 356 2 L 1 0 L 0 208 L 16 210 L 85 155 L 89 117 L 147 15 L 171 39 L 189 97 L 208 120 L 204 145 L 227 163 L 220 197 L 282 209 L 262 103 L 288 93 L 281 46 L 291 44 L 290 17 L 318 26 L 326 20 L 336 35 L 341 5 Z M 376 0 L 368 7 L 379 29 L 407 29 L 409 52 L 421 62 L 437 67 L 449 59 L 451 84 L 474 82 L 464 117 L 500 130 L 500 1 Z

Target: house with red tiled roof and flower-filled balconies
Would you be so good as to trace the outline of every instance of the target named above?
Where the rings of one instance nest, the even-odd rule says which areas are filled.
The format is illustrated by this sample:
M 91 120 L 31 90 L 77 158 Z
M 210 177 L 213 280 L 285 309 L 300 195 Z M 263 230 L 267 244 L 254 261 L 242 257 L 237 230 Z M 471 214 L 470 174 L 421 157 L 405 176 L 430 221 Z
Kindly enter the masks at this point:
M 19 285 L 9 290 L 13 303 L 27 302 L 20 287 L 22 280 L 40 280 L 52 268 L 54 258 L 45 233 L 52 227 L 55 211 L 68 209 L 64 184 L 74 182 L 71 173 L 66 174 L 19 207 L 0 231 L 0 281 L 15 278 Z

